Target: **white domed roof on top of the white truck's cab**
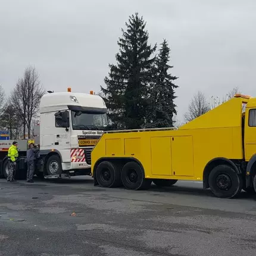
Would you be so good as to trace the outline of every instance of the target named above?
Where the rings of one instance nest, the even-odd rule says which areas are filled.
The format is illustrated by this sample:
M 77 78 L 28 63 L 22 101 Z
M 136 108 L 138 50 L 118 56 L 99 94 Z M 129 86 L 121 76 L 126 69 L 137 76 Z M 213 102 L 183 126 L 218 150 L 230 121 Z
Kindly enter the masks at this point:
M 74 99 L 77 99 L 78 102 Z M 74 92 L 53 92 L 42 96 L 40 101 L 40 113 L 65 110 L 67 106 L 71 105 L 89 108 L 106 108 L 104 100 L 98 95 Z

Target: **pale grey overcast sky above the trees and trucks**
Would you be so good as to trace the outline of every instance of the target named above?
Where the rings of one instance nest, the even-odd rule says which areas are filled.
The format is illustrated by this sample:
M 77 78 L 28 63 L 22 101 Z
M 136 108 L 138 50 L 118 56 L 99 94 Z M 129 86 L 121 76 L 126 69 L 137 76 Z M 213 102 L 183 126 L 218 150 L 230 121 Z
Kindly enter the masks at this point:
M 255 10 L 254 0 L 0 0 L 0 84 L 8 95 L 31 64 L 45 89 L 98 92 L 138 11 L 150 43 L 170 44 L 182 120 L 197 90 L 256 96 Z

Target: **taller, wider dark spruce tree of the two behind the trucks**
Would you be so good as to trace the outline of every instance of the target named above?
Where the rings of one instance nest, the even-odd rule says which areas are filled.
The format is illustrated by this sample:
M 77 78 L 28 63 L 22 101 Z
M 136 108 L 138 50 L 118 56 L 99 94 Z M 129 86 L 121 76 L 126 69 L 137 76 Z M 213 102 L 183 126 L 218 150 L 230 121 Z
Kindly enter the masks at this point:
M 136 13 L 129 17 L 126 30 L 118 40 L 120 51 L 117 64 L 110 64 L 105 77 L 106 88 L 101 90 L 110 120 L 118 129 L 139 129 L 145 126 L 149 106 L 148 90 L 152 80 L 156 46 L 148 43 L 148 32 L 143 17 Z

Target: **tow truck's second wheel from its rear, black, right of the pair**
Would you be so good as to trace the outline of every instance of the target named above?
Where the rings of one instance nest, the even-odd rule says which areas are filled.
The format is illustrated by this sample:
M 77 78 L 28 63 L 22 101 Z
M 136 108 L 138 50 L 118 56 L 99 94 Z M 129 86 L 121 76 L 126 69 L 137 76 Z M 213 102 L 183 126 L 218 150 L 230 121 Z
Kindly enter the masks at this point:
M 132 190 L 148 189 L 152 183 L 152 180 L 145 179 L 142 167 L 136 162 L 124 165 L 121 171 L 121 180 L 126 189 Z

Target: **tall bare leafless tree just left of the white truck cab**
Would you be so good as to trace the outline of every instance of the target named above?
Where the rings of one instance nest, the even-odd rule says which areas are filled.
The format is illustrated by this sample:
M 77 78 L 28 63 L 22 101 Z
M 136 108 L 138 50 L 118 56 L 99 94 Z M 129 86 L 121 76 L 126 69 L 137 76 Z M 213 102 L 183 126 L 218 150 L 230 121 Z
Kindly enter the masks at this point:
M 24 76 L 18 82 L 11 93 L 11 102 L 17 109 L 23 123 L 23 138 L 27 134 L 31 136 L 32 120 L 39 111 L 40 99 L 45 90 L 40 84 L 39 75 L 35 67 L 27 67 Z

